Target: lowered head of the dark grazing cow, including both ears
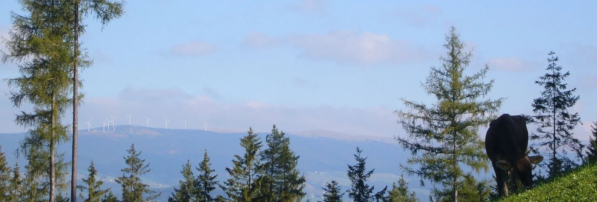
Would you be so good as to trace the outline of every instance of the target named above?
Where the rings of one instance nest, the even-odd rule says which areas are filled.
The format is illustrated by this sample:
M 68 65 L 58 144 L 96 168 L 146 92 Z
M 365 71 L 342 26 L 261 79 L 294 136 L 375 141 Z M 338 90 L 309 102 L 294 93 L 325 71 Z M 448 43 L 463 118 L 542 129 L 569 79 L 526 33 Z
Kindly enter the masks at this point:
M 497 161 L 496 166 L 506 171 L 512 169 L 510 175 L 516 175 L 516 178 L 520 179 L 527 189 L 533 188 L 535 184 L 533 183 L 533 173 L 531 173 L 533 171 L 533 165 L 531 165 L 531 163 L 541 163 L 541 161 L 543 161 L 543 156 L 534 155 L 529 157 L 528 155 L 523 155 L 516 158 L 515 161 L 514 166 L 508 161 Z

